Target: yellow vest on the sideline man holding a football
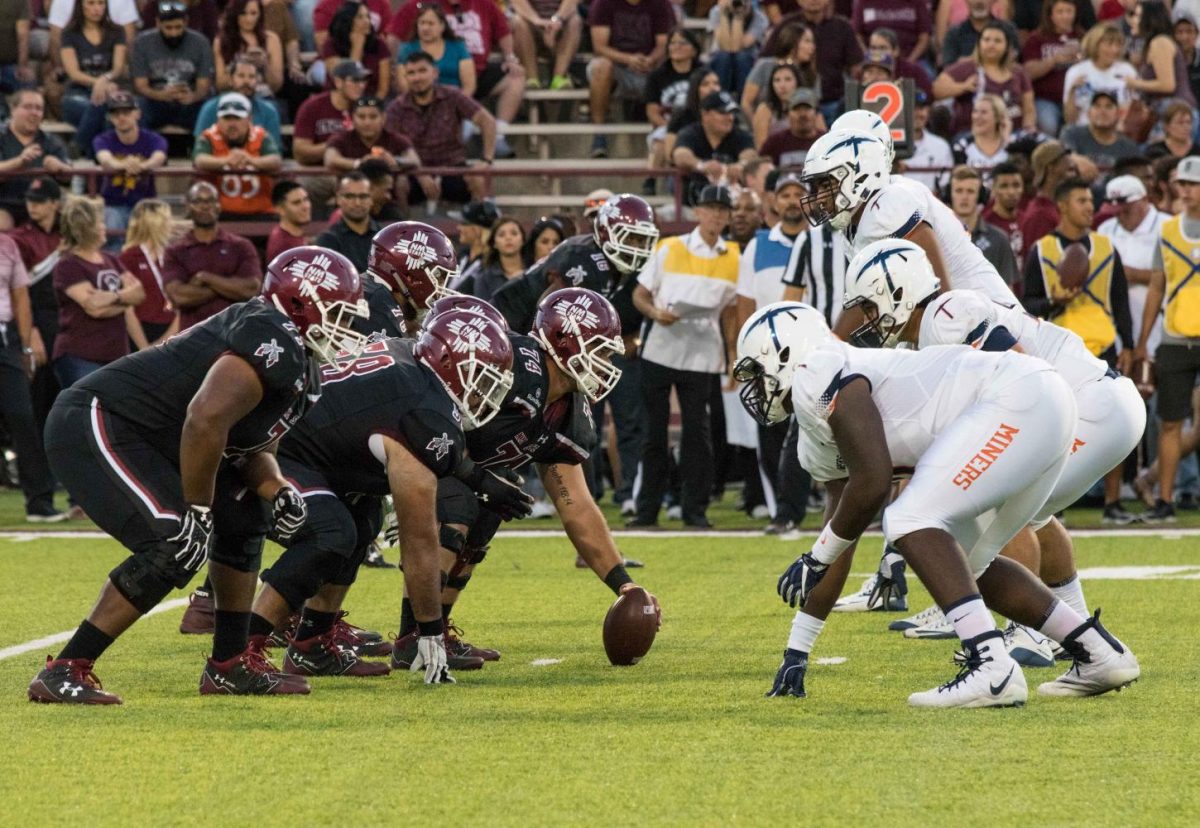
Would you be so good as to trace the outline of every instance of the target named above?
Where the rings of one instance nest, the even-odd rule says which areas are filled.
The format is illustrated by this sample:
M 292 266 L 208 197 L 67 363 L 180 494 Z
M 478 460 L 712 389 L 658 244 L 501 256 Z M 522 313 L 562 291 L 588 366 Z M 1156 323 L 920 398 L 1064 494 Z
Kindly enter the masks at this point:
M 1112 323 L 1112 242 L 1099 233 L 1090 233 L 1088 240 L 1091 252 L 1084 289 L 1051 322 L 1078 334 L 1092 355 L 1099 356 L 1117 340 L 1117 329 Z M 1058 281 L 1062 242 L 1057 235 L 1051 233 L 1038 240 L 1038 259 L 1046 296 L 1063 293 Z

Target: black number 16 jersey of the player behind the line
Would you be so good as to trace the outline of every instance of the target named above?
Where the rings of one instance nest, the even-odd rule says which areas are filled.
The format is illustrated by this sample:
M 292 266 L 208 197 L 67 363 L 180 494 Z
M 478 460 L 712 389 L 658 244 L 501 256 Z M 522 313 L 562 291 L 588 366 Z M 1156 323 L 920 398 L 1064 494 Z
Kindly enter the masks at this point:
M 524 275 L 506 282 L 496 295 L 496 306 L 509 328 L 526 334 L 533 330 L 538 301 L 546 289 L 587 288 L 605 296 L 620 314 L 620 332 L 636 334 L 642 314 L 634 307 L 634 274 L 623 277 L 590 235 L 575 235 L 534 264 Z

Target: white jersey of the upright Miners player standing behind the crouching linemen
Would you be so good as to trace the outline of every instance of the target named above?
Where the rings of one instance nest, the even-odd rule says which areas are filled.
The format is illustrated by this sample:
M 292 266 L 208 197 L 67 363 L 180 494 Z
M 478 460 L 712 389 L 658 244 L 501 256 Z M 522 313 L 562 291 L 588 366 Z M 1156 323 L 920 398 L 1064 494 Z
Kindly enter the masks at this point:
M 851 240 L 851 258 L 881 239 L 904 239 L 923 221 L 934 229 L 952 288 L 980 290 L 998 302 L 1016 304 L 1013 292 L 950 208 L 929 187 L 902 175 L 893 175 L 889 186 L 866 199 Z

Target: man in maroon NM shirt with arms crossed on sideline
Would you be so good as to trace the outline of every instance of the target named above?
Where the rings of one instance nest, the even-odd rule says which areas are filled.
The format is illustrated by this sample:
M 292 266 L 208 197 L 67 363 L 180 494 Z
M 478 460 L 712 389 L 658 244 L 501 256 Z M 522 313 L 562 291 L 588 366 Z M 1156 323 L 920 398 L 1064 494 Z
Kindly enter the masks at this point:
M 193 184 L 187 191 L 192 232 L 167 248 L 162 280 L 180 311 L 180 330 L 258 295 L 262 287 L 258 251 L 248 239 L 217 226 L 220 211 L 217 188 L 206 181 Z

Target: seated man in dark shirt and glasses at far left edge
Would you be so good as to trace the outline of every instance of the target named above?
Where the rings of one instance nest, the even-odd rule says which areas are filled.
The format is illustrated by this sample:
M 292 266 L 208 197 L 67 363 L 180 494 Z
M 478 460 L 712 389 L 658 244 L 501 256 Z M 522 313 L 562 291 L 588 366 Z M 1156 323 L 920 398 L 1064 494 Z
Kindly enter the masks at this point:
M 44 167 L 52 173 L 71 169 L 67 148 L 42 130 L 46 98 L 36 89 L 20 89 L 8 98 L 8 126 L 0 131 L 0 172 Z M 31 181 L 25 176 L 0 179 L 0 230 L 12 229 L 24 217 L 23 196 Z

